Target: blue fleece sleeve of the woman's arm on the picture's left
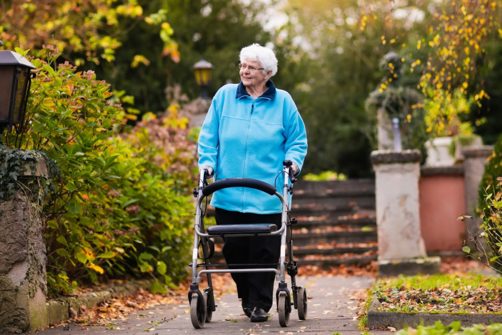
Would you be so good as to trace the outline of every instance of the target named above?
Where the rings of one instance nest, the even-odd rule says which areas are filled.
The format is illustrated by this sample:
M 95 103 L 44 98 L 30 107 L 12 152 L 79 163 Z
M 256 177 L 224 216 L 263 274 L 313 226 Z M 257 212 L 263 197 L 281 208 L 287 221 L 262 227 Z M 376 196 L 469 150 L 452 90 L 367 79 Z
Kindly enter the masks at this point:
M 199 169 L 209 166 L 216 172 L 219 145 L 219 118 L 214 100 L 207 111 L 206 118 L 200 129 L 197 152 L 199 154 Z

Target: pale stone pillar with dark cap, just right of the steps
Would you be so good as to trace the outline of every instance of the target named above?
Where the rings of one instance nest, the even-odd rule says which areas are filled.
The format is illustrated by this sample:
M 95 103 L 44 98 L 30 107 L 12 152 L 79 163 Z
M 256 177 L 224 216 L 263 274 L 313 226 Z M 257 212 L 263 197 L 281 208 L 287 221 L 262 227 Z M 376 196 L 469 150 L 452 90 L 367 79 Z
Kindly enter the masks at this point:
M 381 276 L 439 271 L 439 257 L 427 257 L 420 231 L 419 150 L 371 153 L 375 171 L 378 266 Z

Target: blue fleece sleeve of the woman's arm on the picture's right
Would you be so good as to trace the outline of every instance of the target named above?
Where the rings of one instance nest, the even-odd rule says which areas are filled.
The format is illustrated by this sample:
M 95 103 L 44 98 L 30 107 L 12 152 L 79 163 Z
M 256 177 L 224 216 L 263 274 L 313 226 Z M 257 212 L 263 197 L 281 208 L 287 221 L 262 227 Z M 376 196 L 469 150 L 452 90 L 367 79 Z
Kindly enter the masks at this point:
M 285 159 L 295 162 L 299 168 L 298 174 L 300 174 L 307 155 L 307 131 L 298 110 L 295 110 L 286 125 L 285 151 Z

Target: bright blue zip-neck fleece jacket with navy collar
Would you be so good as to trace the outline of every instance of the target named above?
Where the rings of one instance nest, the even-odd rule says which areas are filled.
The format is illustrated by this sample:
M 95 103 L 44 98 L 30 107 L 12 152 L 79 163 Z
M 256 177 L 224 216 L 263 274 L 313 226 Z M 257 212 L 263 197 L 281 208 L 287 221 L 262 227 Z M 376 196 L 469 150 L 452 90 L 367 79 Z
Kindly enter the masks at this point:
M 291 95 L 267 82 L 267 91 L 253 100 L 242 82 L 221 87 L 214 96 L 199 135 L 199 168 L 214 170 L 214 180 L 253 178 L 276 184 L 282 194 L 285 159 L 302 168 L 307 134 Z M 272 214 L 282 211 L 275 195 L 232 187 L 213 193 L 214 207 Z

